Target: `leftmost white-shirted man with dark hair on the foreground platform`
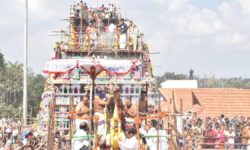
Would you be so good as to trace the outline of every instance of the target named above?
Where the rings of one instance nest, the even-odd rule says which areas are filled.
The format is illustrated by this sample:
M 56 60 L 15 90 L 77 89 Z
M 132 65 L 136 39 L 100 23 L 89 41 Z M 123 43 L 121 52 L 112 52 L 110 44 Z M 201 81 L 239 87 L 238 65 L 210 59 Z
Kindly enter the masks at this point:
M 76 133 L 74 134 L 72 139 L 72 150 L 80 150 L 83 147 L 88 149 L 88 130 L 88 124 L 86 122 L 80 124 L 80 130 L 76 130 Z

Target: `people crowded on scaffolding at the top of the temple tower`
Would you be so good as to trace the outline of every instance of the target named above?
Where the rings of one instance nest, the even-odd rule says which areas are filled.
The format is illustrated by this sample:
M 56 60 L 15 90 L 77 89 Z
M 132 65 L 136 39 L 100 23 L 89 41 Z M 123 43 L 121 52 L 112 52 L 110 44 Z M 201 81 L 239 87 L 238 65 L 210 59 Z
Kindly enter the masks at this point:
M 133 21 L 122 18 L 114 4 L 89 8 L 80 1 L 73 5 L 70 26 L 70 34 L 64 34 L 70 37 L 69 42 L 55 43 L 56 59 L 67 49 L 147 50 L 143 33 Z

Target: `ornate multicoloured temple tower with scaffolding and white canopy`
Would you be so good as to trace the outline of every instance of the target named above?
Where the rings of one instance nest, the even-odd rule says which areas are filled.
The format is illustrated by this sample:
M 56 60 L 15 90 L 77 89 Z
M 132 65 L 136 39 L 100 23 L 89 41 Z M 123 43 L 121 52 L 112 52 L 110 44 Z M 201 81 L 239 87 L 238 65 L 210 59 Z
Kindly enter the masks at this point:
M 118 88 L 121 101 L 129 98 L 138 106 L 144 92 L 150 112 L 150 105 L 154 105 L 158 97 L 144 34 L 132 20 L 124 18 L 114 4 L 92 8 L 81 1 L 70 6 L 66 20 L 69 27 L 55 32 L 60 39 L 55 42 L 53 56 L 43 70 L 48 79 L 37 117 L 37 132 L 45 137 L 47 149 L 55 149 L 57 134 L 63 134 L 69 141 L 65 149 L 69 149 L 73 139 L 79 138 L 74 136 L 77 119 L 87 120 L 90 132 L 85 138 L 90 141 L 89 149 L 98 149 L 103 143 L 110 149 L 118 149 L 123 123 L 119 109 L 115 107 L 112 117 L 106 107 L 103 114 L 98 115 L 95 101 L 109 99 Z M 90 112 L 79 117 L 76 106 L 84 96 L 88 96 Z M 136 122 L 140 120 L 134 121 L 139 128 Z M 104 124 L 104 132 L 99 131 L 103 130 L 100 124 Z M 103 139 L 108 141 L 100 142 Z

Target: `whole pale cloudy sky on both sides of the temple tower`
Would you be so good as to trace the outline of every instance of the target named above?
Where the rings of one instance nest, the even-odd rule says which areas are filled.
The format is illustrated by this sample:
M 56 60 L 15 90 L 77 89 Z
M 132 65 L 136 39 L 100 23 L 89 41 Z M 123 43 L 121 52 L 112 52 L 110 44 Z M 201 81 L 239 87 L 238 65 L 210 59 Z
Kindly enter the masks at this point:
M 76 0 L 77 1 L 77 0 Z M 132 19 L 152 52 L 154 74 L 164 72 L 250 78 L 249 0 L 89 0 L 116 3 Z M 24 0 L 0 0 L 0 49 L 22 62 Z M 65 28 L 70 0 L 30 0 L 29 66 L 42 73 L 52 54 L 51 31 Z

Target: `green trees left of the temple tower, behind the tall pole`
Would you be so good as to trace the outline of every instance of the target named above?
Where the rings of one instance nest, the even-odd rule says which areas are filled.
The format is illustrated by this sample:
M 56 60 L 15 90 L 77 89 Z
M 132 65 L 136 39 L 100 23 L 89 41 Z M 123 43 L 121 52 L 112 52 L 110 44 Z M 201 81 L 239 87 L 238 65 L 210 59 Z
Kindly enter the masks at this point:
M 0 53 L 0 63 L 1 58 Z M 18 62 L 5 62 L 0 67 L 0 116 L 12 114 L 19 115 L 19 108 L 23 102 L 23 65 Z M 4 69 L 3 69 L 4 68 Z M 28 70 L 28 109 L 35 116 L 41 102 L 41 95 L 45 78 L 42 75 L 35 75 L 31 69 Z

